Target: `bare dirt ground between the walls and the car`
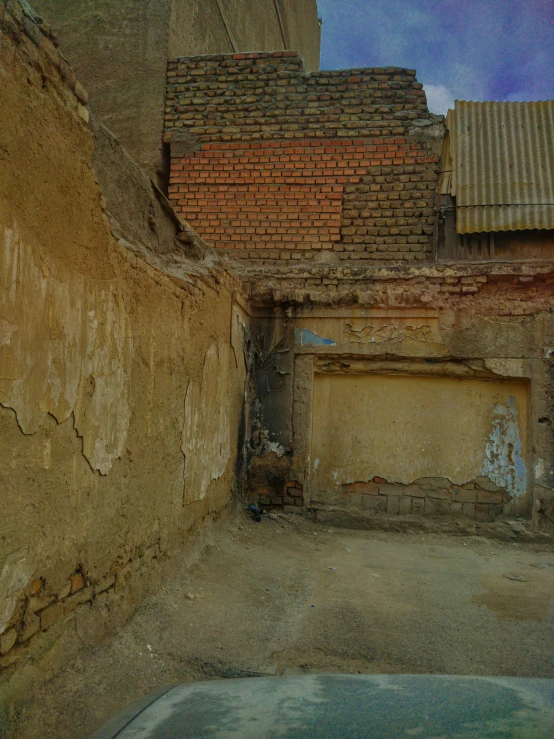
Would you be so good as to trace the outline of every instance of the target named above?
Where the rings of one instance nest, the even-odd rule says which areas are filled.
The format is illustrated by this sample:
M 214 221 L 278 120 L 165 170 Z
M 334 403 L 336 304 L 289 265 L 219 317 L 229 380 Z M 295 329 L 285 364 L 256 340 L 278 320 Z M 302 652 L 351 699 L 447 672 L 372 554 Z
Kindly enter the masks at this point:
M 239 514 L 30 696 L 20 736 L 84 739 L 176 681 L 317 672 L 554 678 L 554 552 Z

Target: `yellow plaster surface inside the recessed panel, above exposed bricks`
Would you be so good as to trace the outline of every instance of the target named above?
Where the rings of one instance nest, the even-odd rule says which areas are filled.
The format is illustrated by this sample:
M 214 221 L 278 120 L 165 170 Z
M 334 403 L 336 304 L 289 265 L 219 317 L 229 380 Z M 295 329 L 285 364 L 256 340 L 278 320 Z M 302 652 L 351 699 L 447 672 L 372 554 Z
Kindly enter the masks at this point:
M 527 413 L 527 388 L 518 382 L 316 374 L 312 490 L 374 476 L 463 484 L 484 475 L 522 495 Z

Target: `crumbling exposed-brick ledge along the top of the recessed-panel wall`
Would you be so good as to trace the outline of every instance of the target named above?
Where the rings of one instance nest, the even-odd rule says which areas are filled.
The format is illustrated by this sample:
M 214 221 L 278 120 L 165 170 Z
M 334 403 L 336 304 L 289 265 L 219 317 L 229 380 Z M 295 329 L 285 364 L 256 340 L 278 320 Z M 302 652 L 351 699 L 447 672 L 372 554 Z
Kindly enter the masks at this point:
M 418 265 L 409 267 L 249 267 L 243 280 L 253 306 L 457 305 L 468 320 L 485 315 L 525 316 L 554 310 L 552 262 Z

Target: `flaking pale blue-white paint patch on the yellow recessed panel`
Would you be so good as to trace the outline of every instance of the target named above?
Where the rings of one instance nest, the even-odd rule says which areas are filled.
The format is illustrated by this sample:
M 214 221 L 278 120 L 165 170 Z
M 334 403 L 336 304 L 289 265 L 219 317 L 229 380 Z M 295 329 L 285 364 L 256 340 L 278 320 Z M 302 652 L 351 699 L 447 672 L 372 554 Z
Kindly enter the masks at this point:
M 493 412 L 493 429 L 485 445 L 483 475 L 519 497 L 527 492 L 527 468 L 522 456 L 516 399 L 509 396 L 508 404 L 495 404 Z

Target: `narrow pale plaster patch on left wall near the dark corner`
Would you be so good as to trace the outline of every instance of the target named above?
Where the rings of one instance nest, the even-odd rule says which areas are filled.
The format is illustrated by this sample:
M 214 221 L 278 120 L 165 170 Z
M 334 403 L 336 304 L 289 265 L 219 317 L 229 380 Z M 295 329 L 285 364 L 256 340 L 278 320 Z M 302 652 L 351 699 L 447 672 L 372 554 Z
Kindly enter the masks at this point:
M 228 344 L 212 344 L 204 358 L 200 383 L 191 380 L 185 397 L 181 450 L 185 457 L 185 504 L 202 500 L 231 456 L 230 362 Z

